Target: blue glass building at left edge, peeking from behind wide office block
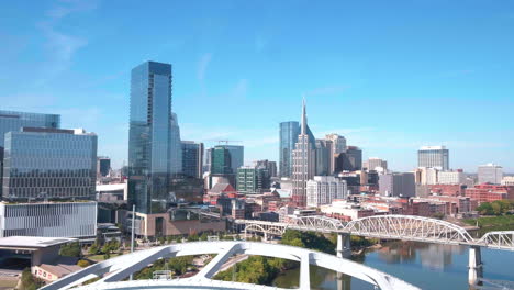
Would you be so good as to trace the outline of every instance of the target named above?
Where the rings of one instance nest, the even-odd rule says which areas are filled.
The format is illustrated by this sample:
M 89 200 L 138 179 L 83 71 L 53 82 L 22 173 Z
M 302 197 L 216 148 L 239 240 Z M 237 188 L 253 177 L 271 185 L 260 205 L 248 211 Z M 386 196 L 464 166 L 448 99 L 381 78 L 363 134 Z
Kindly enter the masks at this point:
M 5 133 L 20 131 L 24 126 L 29 127 L 49 127 L 58 129 L 60 125 L 60 115 L 26 113 L 15 111 L 0 110 L 0 194 L 3 176 L 3 143 Z

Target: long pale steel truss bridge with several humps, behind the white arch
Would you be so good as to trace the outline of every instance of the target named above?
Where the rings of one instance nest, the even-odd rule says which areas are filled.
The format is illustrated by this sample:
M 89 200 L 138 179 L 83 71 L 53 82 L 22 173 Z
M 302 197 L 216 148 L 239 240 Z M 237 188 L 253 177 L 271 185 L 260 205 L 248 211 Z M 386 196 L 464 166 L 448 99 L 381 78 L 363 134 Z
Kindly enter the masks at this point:
M 244 225 L 246 233 L 264 234 L 265 239 L 281 236 L 287 230 L 298 230 L 514 250 L 514 231 L 490 232 L 476 239 L 459 225 L 415 215 L 376 215 L 348 223 L 320 215 L 293 217 L 288 223 L 255 220 L 236 220 L 235 223 Z

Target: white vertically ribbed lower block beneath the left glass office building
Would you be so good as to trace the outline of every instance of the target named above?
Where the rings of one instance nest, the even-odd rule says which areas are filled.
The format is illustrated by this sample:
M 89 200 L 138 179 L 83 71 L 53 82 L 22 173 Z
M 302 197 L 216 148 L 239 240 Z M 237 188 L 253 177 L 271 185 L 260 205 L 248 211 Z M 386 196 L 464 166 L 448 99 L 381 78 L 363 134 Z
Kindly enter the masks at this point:
M 0 237 L 89 238 L 97 235 L 97 202 L 0 202 Z

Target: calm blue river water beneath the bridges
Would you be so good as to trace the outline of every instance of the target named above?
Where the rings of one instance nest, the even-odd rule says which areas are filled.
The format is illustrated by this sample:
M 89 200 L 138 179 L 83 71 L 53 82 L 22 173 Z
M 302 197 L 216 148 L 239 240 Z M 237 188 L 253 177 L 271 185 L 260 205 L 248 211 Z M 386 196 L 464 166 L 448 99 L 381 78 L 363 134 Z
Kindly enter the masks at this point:
M 422 289 L 471 289 L 468 286 L 468 247 L 425 243 L 393 242 L 367 250 L 355 261 L 388 272 Z M 482 248 L 483 278 L 514 281 L 514 252 Z M 273 286 L 297 288 L 300 269 L 283 272 Z M 373 287 L 359 279 L 311 266 L 311 288 L 360 290 Z

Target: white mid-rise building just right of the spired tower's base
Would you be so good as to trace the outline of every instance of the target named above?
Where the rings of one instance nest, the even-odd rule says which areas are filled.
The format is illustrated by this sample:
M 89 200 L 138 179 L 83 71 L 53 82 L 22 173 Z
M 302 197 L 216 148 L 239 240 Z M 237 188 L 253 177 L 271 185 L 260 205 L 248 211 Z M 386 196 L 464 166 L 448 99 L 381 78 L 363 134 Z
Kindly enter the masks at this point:
M 335 199 L 345 199 L 347 186 L 345 180 L 333 176 L 315 176 L 306 185 L 306 205 L 320 207 L 329 204 Z

